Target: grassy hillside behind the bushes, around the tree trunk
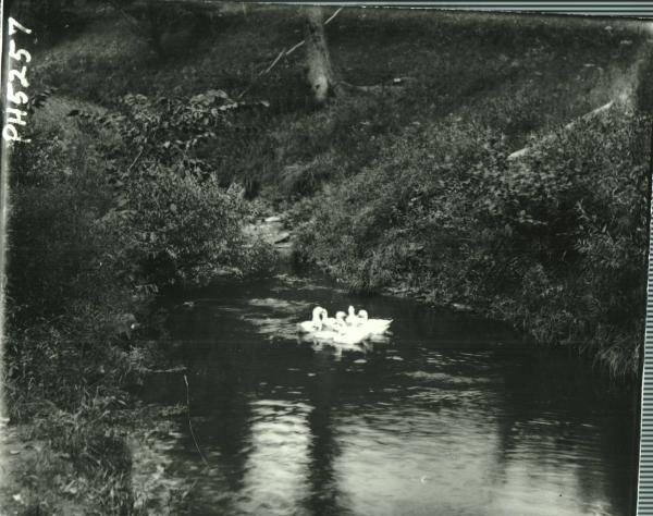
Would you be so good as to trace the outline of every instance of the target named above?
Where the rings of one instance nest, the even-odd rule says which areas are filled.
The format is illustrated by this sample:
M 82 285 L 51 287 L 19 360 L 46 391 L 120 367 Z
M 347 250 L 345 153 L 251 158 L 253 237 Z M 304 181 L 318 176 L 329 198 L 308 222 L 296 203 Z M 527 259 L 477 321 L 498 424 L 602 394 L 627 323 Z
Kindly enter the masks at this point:
M 35 87 L 112 107 L 127 94 L 188 99 L 219 88 L 236 98 L 251 86 L 245 100 L 269 108 L 242 112 L 234 131 L 194 153 L 224 183 L 296 200 L 359 172 L 405 128 L 451 113 L 476 113 L 518 149 L 611 100 L 642 40 L 627 27 L 582 19 L 560 26 L 555 17 L 386 14 L 347 9 L 329 25 L 343 78 L 382 88 L 324 110 L 306 90 L 300 51 L 251 85 L 303 38 L 299 13 L 283 8 L 213 14 L 188 34 L 171 28 L 163 57 L 123 17 L 98 16 L 81 35 L 42 49 Z M 395 78 L 403 83 L 392 86 Z

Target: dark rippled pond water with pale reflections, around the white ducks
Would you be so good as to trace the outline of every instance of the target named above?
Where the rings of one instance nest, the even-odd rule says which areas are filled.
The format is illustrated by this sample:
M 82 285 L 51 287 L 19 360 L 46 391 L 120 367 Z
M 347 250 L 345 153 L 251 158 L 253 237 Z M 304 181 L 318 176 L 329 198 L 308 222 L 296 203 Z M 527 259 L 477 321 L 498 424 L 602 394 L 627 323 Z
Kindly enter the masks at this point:
M 281 277 L 172 318 L 193 427 L 170 450 L 196 515 L 627 515 L 634 396 L 500 324 Z M 315 304 L 393 318 L 366 353 L 297 342 Z M 183 377 L 152 402 L 185 403 Z

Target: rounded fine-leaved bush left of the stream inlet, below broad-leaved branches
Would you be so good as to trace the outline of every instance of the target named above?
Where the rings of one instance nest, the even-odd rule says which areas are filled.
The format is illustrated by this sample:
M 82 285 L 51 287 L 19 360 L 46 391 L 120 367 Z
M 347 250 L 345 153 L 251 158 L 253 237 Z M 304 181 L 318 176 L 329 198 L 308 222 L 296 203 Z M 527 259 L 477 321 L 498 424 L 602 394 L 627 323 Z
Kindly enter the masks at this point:
M 244 248 L 246 208 L 237 187 L 225 191 L 212 177 L 200 183 L 170 169 L 153 174 L 155 181 L 132 181 L 124 206 L 103 219 L 121 235 L 123 260 L 134 265 L 130 280 L 140 272 L 156 285 L 204 283 L 256 269 Z

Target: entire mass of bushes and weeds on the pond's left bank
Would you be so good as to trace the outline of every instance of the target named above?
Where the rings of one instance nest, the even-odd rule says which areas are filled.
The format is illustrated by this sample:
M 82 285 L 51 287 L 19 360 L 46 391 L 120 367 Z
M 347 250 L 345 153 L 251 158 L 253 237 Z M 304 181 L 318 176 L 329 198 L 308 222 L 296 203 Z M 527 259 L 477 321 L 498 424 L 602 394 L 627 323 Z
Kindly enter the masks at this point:
M 37 110 L 32 143 L 14 148 L 5 386 L 44 463 L 23 486 L 26 513 L 93 502 L 93 514 L 134 514 L 116 414 L 131 406 L 125 389 L 164 359 L 153 296 L 273 266 L 270 246 L 243 233 L 244 188 L 193 157 L 239 107 L 220 93 L 130 96 L 112 111 L 71 102 L 63 122 Z M 73 480 L 47 472 L 62 460 Z

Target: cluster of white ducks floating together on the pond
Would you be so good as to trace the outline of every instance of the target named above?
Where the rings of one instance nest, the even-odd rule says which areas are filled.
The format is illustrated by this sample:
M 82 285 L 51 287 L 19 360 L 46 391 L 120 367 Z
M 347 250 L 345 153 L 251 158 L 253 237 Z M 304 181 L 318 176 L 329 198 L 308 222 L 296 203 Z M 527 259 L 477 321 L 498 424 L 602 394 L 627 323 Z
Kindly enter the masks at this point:
M 390 330 L 392 319 L 370 319 L 366 310 L 358 310 L 349 306 L 348 314 L 329 312 L 321 306 L 312 310 L 312 319 L 297 324 L 297 330 L 306 336 L 317 341 L 329 341 L 335 344 L 360 344 L 364 341 L 381 337 Z

